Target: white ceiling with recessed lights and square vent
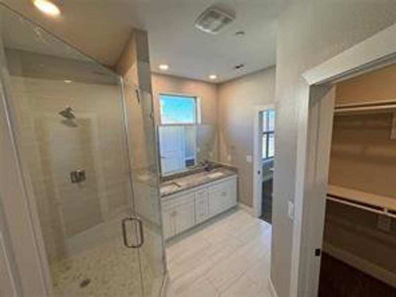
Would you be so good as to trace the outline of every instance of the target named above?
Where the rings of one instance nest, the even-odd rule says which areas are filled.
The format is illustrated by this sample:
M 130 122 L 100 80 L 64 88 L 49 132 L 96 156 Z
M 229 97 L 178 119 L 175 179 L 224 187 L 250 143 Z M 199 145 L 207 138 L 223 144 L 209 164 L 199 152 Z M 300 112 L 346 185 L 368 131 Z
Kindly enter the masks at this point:
M 194 27 L 214 0 L 65 0 L 61 18 L 39 13 L 30 0 L 1 0 L 100 62 L 113 65 L 132 27 L 148 31 L 152 71 L 218 82 L 275 64 L 277 18 L 289 0 L 221 0 L 236 21 L 218 35 Z M 244 37 L 235 36 L 245 31 Z M 234 66 L 245 64 L 245 71 Z

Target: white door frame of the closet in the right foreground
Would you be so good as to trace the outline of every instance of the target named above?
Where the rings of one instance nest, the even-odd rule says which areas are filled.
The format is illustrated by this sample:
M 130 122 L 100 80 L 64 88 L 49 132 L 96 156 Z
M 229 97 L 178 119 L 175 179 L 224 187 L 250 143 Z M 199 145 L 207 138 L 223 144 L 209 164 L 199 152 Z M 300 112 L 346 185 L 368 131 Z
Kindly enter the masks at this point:
M 396 61 L 396 24 L 304 72 L 300 80 L 291 297 L 317 296 L 335 93 L 332 84 Z M 303 232 L 302 232 L 303 230 Z

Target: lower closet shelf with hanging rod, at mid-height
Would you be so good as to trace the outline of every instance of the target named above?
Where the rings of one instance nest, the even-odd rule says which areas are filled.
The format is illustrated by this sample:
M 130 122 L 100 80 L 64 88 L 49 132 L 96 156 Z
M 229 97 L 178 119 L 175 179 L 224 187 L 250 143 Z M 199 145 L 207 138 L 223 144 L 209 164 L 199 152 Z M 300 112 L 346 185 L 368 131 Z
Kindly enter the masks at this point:
M 329 185 L 327 199 L 396 218 L 396 198 Z

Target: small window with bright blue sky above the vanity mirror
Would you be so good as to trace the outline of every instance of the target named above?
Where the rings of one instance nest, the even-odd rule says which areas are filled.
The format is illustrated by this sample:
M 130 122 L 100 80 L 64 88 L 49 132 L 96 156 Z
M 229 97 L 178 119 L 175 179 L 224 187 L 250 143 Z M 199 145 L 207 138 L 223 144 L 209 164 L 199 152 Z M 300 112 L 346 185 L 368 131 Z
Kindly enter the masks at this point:
M 160 95 L 162 125 L 197 123 L 197 98 L 179 95 Z

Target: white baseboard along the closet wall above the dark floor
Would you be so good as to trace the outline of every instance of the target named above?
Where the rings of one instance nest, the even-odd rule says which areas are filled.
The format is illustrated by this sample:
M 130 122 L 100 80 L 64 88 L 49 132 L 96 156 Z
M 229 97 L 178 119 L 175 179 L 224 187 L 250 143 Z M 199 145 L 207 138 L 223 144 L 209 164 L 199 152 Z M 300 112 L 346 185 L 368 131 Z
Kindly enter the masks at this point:
M 334 247 L 328 243 L 323 243 L 323 251 L 392 287 L 396 287 L 396 274 L 392 271 L 386 270 L 370 261 L 367 261 L 366 259 L 354 255 L 349 251 L 339 247 Z

